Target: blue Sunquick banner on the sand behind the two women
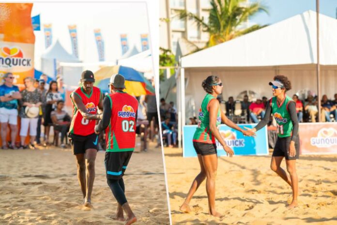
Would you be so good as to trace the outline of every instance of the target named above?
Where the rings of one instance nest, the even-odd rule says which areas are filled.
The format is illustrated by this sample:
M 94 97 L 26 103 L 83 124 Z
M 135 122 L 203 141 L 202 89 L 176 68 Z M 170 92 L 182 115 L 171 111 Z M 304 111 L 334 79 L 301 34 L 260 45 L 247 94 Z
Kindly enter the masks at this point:
M 256 124 L 237 124 L 240 128 L 254 128 Z M 186 125 L 183 129 L 183 156 L 197 157 L 193 147 L 193 135 L 197 125 Z M 220 125 L 220 134 L 235 155 L 268 155 L 267 127 L 256 132 L 256 137 L 245 137 L 241 132 L 226 125 Z M 226 152 L 216 141 L 217 155 L 226 156 Z

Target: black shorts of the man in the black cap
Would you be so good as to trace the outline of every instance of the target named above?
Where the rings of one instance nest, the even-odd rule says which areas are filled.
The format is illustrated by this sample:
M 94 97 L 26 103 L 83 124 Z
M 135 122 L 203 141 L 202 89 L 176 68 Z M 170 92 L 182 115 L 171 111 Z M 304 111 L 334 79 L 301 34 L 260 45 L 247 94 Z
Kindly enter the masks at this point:
M 98 151 L 98 135 L 93 133 L 88 136 L 81 136 L 76 134 L 69 134 L 71 138 L 71 146 L 73 148 L 74 155 L 85 154 L 85 150 L 94 148 Z

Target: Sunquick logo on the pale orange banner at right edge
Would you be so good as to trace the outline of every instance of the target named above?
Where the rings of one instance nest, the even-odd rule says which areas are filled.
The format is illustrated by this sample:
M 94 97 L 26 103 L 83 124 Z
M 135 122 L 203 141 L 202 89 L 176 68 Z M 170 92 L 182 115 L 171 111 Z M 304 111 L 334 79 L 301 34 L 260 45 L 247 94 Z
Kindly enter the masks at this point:
M 334 128 L 322 128 L 317 137 L 310 138 L 310 144 L 317 147 L 331 147 L 337 145 L 337 130 Z

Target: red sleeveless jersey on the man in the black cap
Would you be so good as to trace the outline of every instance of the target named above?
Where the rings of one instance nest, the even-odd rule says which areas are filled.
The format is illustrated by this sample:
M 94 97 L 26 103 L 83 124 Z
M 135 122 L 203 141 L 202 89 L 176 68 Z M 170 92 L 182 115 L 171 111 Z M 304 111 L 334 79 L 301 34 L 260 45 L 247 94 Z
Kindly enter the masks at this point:
M 83 91 L 82 87 L 77 88 L 75 91 L 72 92 L 72 94 L 73 93 L 74 95 L 77 95 L 81 98 L 89 113 L 97 113 L 97 106 L 102 97 L 102 92 L 98 87 L 92 87 L 92 92 L 90 93 L 90 95 L 87 95 Z M 71 121 L 69 132 L 76 135 L 88 136 L 94 133 L 93 129 L 95 127 L 95 124 L 96 120 L 84 119 L 73 102 L 73 119 Z

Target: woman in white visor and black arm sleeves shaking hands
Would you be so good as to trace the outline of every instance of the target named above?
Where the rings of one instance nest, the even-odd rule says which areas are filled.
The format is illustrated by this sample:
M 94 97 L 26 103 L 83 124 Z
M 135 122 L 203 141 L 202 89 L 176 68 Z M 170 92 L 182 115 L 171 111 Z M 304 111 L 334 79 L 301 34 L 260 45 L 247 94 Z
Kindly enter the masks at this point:
M 277 123 L 277 141 L 274 147 L 271 169 L 284 179 L 292 188 L 290 209 L 297 206 L 298 178 L 296 173 L 296 159 L 299 158 L 299 137 L 296 104 L 286 92 L 291 89 L 291 82 L 286 76 L 276 75 L 272 86 L 273 97 L 269 100 L 266 113 L 253 132 L 266 126 L 271 114 Z M 281 161 L 286 158 L 287 173 L 280 167 Z

